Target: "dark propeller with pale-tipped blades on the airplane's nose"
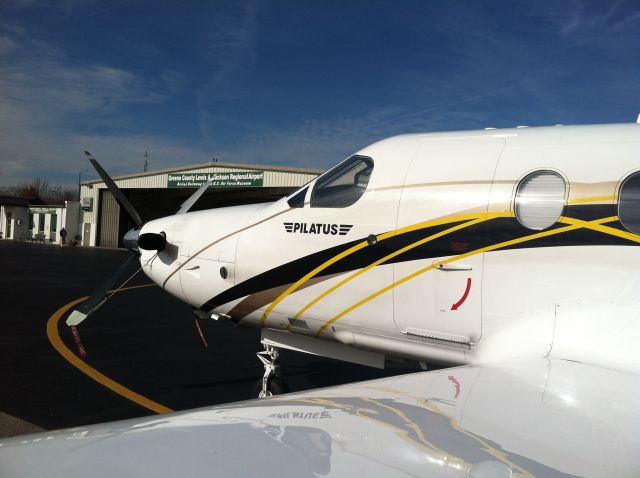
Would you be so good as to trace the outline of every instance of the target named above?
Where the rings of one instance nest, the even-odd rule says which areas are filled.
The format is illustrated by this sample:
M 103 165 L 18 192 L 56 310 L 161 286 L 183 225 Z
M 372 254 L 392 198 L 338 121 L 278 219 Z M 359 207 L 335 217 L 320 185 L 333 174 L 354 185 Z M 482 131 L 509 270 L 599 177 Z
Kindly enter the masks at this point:
M 107 174 L 102 166 L 100 166 L 98 160 L 95 159 L 89 151 L 85 151 L 84 154 L 87 156 L 100 178 L 104 181 L 114 199 L 118 202 L 120 207 L 122 207 L 126 211 L 131 221 L 135 224 L 135 227 L 129 230 L 122 239 L 123 244 L 132 252 L 132 254 L 91 293 L 87 300 L 85 300 L 80 306 L 74 309 L 74 311 L 69 315 L 66 321 L 67 325 L 69 326 L 78 325 L 80 322 L 82 322 L 96 310 L 98 310 L 107 300 L 109 300 L 109 298 L 113 294 L 115 294 L 115 291 L 111 293 L 109 293 L 109 291 L 113 289 L 114 285 L 118 282 L 120 277 L 125 273 L 129 266 L 139 258 L 139 249 L 160 252 L 167 245 L 167 236 L 164 232 L 146 232 L 144 234 L 140 234 L 140 229 L 142 228 L 144 223 L 142 222 L 142 219 L 140 218 L 138 212 L 133 207 L 133 204 L 129 202 L 124 193 L 116 185 L 113 179 L 111 179 L 111 176 L 109 176 L 109 174 Z M 188 212 L 189 209 L 191 209 L 195 202 L 200 198 L 200 196 L 202 196 L 206 189 L 211 185 L 212 181 L 213 178 L 209 179 L 195 193 L 193 193 L 191 197 L 189 197 L 180 206 L 176 214 L 185 214 L 186 212 Z M 127 278 L 122 284 L 120 284 L 117 289 L 122 288 L 141 270 L 142 267 L 137 269 L 136 272 L 133 275 L 129 276 L 129 278 Z

